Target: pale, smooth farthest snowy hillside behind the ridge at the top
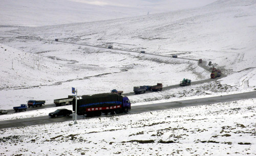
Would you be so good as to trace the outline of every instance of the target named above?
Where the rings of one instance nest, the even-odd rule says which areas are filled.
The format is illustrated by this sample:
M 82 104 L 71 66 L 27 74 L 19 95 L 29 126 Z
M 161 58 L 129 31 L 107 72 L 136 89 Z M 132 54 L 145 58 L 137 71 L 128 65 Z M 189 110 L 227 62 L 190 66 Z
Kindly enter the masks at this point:
M 141 16 L 201 7 L 217 0 L 2 0 L 0 25 L 42 26 Z

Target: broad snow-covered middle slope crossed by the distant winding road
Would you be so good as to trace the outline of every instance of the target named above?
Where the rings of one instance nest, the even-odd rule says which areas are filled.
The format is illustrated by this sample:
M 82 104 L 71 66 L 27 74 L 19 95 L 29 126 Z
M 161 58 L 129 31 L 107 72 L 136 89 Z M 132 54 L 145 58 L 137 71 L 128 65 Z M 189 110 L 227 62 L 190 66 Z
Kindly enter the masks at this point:
M 227 88 L 223 92 L 251 91 L 256 86 L 255 5 L 251 0 L 218 1 L 197 9 L 115 20 L 1 28 L 3 48 L 0 50 L 5 60 L 1 62 L 1 72 L 5 74 L 1 77 L 1 87 L 5 89 L 1 90 L 1 94 L 6 95 L 1 100 L 5 101 L 5 108 L 11 108 L 28 98 L 46 99 L 47 103 L 52 103 L 54 98 L 70 94 L 71 87 L 78 88 L 80 94 L 109 92 L 113 88 L 132 92 L 133 86 L 159 82 L 169 86 L 178 84 L 183 77 L 192 81 L 209 78 L 210 72 L 198 67 L 197 61 L 78 44 L 113 45 L 117 49 L 145 50 L 146 54 L 201 58 L 213 62 L 228 75 L 220 81 Z M 55 38 L 60 42 L 55 42 Z M 13 55 L 9 57 L 6 53 Z M 16 54 L 19 53 L 25 57 L 17 59 L 19 56 Z M 12 59 L 14 69 L 9 70 Z M 15 66 L 18 63 L 23 67 Z M 202 84 L 201 87 L 206 86 L 210 92 L 216 92 L 216 85 Z M 200 94 L 196 92 L 192 95 L 205 95 L 201 87 L 198 87 Z M 29 89 L 25 91 L 23 88 Z M 180 94 L 187 93 L 190 93 L 189 88 Z M 20 97 L 15 99 L 15 103 L 13 99 L 6 98 L 13 94 Z M 163 99 L 163 96 L 157 99 Z

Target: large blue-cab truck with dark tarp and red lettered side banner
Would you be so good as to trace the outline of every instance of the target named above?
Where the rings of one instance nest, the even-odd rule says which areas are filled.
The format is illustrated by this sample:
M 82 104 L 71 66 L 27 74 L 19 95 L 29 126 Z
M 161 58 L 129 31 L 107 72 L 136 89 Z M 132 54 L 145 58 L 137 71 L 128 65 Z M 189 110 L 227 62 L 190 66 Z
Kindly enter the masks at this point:
M 73 99 L 73 112 L 75 112 L 75 98 Z M 77 115 L 100 116 L 101 113 L 127 113 L 131 110 L 128 97 L 115 93 L 102 93 L 82 95 L 77 99 Z

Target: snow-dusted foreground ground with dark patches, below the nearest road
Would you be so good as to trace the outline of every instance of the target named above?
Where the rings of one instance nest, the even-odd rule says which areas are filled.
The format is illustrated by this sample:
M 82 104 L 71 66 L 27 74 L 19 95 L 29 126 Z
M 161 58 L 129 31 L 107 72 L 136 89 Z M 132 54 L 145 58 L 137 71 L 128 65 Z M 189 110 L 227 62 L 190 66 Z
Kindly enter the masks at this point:
M 0 149 L 2 155 L 255 155 L 255 102 L 2 129 Z

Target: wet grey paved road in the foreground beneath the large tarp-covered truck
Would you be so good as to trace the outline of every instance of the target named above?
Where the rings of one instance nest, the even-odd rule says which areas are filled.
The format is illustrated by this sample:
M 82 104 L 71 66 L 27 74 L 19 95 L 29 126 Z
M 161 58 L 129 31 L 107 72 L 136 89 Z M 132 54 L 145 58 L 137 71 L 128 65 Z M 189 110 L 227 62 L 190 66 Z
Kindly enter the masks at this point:
M 182 108 L 182 107 L 189 107 L 189 106 L 209 105 L 212 103 L 249 99 L 249 98 L 255 98 L 255 97 L 256 97 L 256 92 L 253 91 L 253 92 L 216 96 L 216 97 L 155 103 L 151 105 L 132 106 L 131 111 L 128 112 L 127 114 L 137 114 L 137 113 L 143 113 L 143 112 L 175 109 L 175 108 Z M 125 114 L 120 114 L 120 115 L 125 115 Z M 108 116 L 102 115 L 101 117 L 110 117 L 110 116 L 112 115 L 108 115 Z M 87 118 L 84 116 L 77 117 L 77 120 L 82 120 L 82 119 L 87 119 Z M 0 129 L 63 122 L 63 121 L 72 121 L 72 120 L 74 120 L 74 114 L 70 115 L 69 117 L 65 116 L 65 117 L 51 118 L 49 116 L 42 116 L 42 117 L 16 119 L 16 120 L 5 120 L 5 121 L 0 121 Z

